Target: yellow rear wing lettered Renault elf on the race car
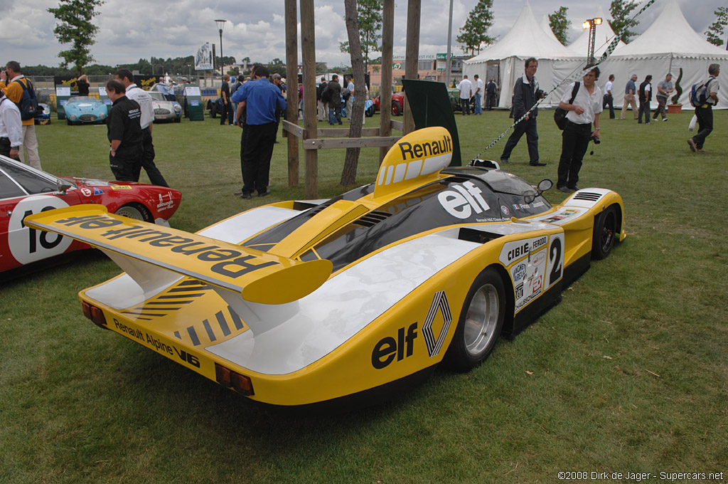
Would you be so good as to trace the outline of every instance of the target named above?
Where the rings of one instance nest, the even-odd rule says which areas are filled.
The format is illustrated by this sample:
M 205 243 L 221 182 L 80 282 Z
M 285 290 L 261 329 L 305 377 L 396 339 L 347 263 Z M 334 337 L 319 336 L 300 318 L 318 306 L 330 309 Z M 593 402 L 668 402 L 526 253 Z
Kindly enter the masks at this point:
M 301 262 L 116 216 L 101 205 L 44 211 L 25 217 L 24 223 L 100 249 L 145 290 L 179 274 L 210 284 L 241 316 L 250 316 L 246 323 L 252 323 L 251 329 L 260 305 L 293 303 L 317 289 L 333 270 L 325 259 Z

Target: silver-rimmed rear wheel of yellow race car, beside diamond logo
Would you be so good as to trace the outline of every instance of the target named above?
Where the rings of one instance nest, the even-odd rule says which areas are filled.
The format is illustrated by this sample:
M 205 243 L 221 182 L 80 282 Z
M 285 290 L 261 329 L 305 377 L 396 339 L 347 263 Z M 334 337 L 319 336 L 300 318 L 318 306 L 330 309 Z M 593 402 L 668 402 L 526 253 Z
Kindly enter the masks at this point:
M 496 346 L 505 319 L 505 289 L 494 269 L 475 278 L 462 306 L 445 356 L 453 370 L 466 372 L 482 363 Z

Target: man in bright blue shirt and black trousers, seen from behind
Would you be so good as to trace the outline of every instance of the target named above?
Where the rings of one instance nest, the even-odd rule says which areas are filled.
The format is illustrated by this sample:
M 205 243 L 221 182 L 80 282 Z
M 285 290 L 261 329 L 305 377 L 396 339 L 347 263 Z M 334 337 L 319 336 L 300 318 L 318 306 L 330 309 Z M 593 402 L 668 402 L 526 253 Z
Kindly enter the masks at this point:
M 255 81 L 245 82 L 235 91 L 232 102 L 238 104 L 238 113 L 245 109 L 245 122 L 240 138 L 240 165 L 242 168 L 242 190 L 240 198 L 269 195 L 268 190 L 271 157 L 275 143 L 275 110 L 285 112 L 285 99 L 280 89 L 269 81 L 265 66 L 256 66 Z M 240 120 L 240 115 L 238 116 Z

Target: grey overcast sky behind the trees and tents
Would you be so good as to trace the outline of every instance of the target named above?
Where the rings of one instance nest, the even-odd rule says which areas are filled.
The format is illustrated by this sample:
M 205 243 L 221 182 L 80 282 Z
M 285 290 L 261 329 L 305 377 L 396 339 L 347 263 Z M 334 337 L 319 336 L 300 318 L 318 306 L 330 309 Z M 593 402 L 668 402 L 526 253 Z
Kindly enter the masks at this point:
M 453 52 L 462 51 L 455 42 L 458 29 L 478 0 L 454 0 Z M 668 0 L 657 0 L 638 20 L 637 31 L 644 31 L 662 11 Z M 569 40 L 581 33 L 581 23 L 596 14 L 599 6 L 609 17 L 609 0 L 530 0 L 537 20 L 561 7 L 568 7 L 572 23 Z M 703 34 L 715 20 L 713 11 L 727 4 L 725 0 L 678 0 L 690 25 Z M 641 2 L 641 5 L 644 2 Z M 405 51 L 407 1 L 395 4 L 395 55 Z M 4 59 L 21 65 L 58 66 L 58 52 L 63 50 L 55 39 L 55 17 L 47 12 L 58 0 L 22 0 L 0 2 L 0 42 Z M 349 65 L 348 54 L 339 52 L 339 43 L 347 40 L 344 27 L 343 0 L 314 0 L 316 17 L 316 60 L 329 67 Z M 488 34 L 503 36 L 518 17 L 523 0 L 494 0 L 494 26 Z M 448 31 L 447 0 L 422 0 L 420 54 L 446 52 Z M 116 66 L 149 60 L 194 55 L 205 42 L 219 44 L 214 20 L 228 20 L 223 30 L 223 53 L 237 61 L 250 57 L 268 62 L 285 60 L 285 26 L 283 0 L 106 0 L 94 22 L 99 26 L 92 55 L 100 64 Z M 665 35 L 669 35 L 665 32 Z M 219 45 L 216 47 L 219 55 Z M 299 41 L 300 59 L 300 41 Z

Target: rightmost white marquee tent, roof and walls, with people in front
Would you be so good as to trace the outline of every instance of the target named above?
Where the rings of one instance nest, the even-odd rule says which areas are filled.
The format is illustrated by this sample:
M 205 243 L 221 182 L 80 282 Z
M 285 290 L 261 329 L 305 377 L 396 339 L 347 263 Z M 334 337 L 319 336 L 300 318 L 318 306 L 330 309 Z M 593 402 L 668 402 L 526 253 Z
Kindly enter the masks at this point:
M 660 3 L 664 5 L 662 13 L 652 26 L 629 44 L 617 47 L 600 66 L 605 76 L 614 74 L 617 77 L 614 82 L 615 105 L 622 106 L 620 93 L 624 93 L 624 86 L 632 74 L 637 74 L 638 83 L 647 74 L 652 74 L 652 86 L 656 90 L 657 82 L 665 79 L 665 74 L 673 74 L 675 83 L 680 69 L 683 69 L 680 81 L 683 93 L 679 104 L 691 109 L 688 95 L 692 85 L 708 77 L 711 63 L 728 64 L 728 52 L 707 42 L 704 36 L 693 30 L 676 0 Z M 724 96 L 719 96 L 719 107 L 728 108 Z

